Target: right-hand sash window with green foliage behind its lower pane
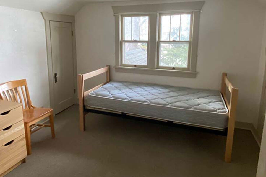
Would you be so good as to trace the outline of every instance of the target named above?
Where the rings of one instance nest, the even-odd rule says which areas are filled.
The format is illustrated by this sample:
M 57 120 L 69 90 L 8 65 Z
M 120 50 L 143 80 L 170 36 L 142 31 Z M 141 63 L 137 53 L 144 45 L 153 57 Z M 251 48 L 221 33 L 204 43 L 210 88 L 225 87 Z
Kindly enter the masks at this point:
M 157 68 L 189 71 L 192 12 L 159 14 Z

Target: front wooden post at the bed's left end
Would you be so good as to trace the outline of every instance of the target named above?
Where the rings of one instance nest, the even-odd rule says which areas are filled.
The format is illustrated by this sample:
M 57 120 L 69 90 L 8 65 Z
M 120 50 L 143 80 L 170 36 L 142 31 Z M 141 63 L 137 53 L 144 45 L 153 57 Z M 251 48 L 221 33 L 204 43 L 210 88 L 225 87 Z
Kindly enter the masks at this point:
M 79 90 L 79 107 L 80 107 L 80 130 L 85 131 L 85 115 L 84 115 L 84 81 L 83 81 L 83 75 L 78 75 L 78 90 Z

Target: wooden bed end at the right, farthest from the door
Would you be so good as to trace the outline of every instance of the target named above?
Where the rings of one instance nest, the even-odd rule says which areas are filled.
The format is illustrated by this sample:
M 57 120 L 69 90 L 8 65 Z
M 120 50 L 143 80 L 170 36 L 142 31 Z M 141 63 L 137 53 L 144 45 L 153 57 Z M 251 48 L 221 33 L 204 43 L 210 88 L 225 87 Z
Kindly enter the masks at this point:
M 228 101 L 226 98 L 226 88 L 230 92 L 230 100 Z M 221 84 L 221 94 L 223 95 L 223 99 L 226 103 L 226 106 L 229 110 L 228 114 L 228 130 L 227 130 L 227 138 L 226 138 L 226 150 L 225 150 L 225 162 L 231 162 L 231 154 L 232 154 L 232 146 L 233 146 L 233 137 L 234 137 L 234 129 L 235 129 L 235 118 L 236 118 L 236 105 L 238 98 L 238 89 L 234 88 L 231 82 L 227 78 L 227 73 L 223 73 L 222 75 L 222 84 Z

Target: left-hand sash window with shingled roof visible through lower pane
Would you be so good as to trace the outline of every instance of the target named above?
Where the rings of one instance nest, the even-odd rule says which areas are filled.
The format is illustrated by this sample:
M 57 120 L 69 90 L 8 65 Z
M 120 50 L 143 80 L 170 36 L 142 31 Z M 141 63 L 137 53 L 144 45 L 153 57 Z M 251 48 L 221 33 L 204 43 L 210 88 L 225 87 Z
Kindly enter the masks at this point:
M 147 68 L 149 15 L 121 16 L 121 66 Z

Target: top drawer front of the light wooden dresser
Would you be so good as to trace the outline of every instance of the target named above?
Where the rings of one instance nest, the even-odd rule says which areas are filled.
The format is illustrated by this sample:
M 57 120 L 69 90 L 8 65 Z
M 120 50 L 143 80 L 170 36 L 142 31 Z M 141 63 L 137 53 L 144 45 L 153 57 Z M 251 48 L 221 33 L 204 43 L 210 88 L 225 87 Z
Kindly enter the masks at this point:
M 22 106 L 0 114 L 0 130 L 23 120 Z

